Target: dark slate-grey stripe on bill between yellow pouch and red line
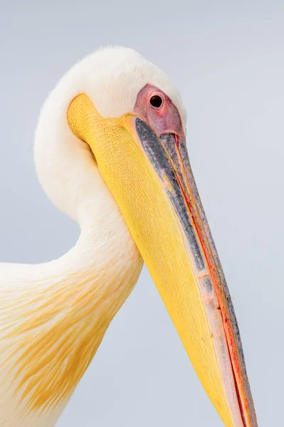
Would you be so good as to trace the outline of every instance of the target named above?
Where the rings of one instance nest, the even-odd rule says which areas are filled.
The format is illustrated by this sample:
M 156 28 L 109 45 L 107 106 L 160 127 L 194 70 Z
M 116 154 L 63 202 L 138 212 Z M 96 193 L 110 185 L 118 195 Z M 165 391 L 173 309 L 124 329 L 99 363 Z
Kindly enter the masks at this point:
M 184 201 L 184 196 L 182 195 L 182 190 L 179 186 L 174 170 L 172 169 L 172 165 L 169 162 L 167 153 L 165 152 L 164 148 L 162 147 L 162 144 L 159 142 L 159 139 L 154 134 L 152 129 L 147 125 L 147 123 L 145 123 L 139 118 L 136 119 L 136 130 L 140 138 L 142 147 L 146 152 L 150 162 L 152 163 L 155 171 L 162 180 L 164 179 L 164 176 L 166 176 L 170 184 L 172 185 L 172 189 L 167 189 L 167 194 L 172 202 L 172 205 L 174 206 L 179 220 L 182 223 L 182 227 L 184 228 L 184 233 L 189 242 L 191 253 L 194 256 L 194 263 L 196 265 L 196 269 L 198 271 L 204 270 L 204 258 L 201 254 L 201 249 L 196 239 L 194 227 L 191 223 L 191 218 L 189 216 L 188 208 Z M 172 150 L 171 154 L 173 153 L 173 151 L 174 150 Z

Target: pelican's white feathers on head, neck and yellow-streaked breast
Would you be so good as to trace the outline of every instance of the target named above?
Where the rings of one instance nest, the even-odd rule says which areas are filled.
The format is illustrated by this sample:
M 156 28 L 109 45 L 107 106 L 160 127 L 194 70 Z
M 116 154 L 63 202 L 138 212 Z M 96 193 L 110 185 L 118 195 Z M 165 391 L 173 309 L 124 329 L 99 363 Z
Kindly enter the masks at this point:
M 172 97 L 185 121 L 179 94 L 166 75 L 127 48 L 101 49 L 82 60 L 61 79 L 43 106 L 36 130 L 36 172 L 48 197 L 78 221 L 81 233 L 75 246 L 58 260 L 40 265 L 0 265 L 1 427 L 54 425 L 110 320 L 140 274 L 140 253 L 88 145 L 70 131 L 66 113 L 73 97 L 86 93 L 103 117 L 119 117 L 133 109 L 137 93 L 148 82 L 159 85 Z M 83 315 L 82 306 L 74 302 L 85 295 L 89 297 L 82 304 L 85 312 L 91 308 L 88 315 Z M 98 329 L 101 317 L 105 326 L 99 325 Z M 56 329 L 58 322 L 63 325 L 61 329 L 60 325 Z M 93 343 L 85 343 L 90 348 L 83 368 L 74 374 L 74 384 L 63 393 L 63 401 L 50 393 L 55 404 L 49 401 L 42 408 L 30 408 L 28 393 L 32 393 L 32 387 L 22 398 L 27 384 L 33 379 L 36 384 L 49 375 L 56 389 L 56 381 L 63 381 L 66 375 L 68 357 L 82 354 L 80 338 L 92 327 L 97 327 L 98 334 Z M 61 334 L 53 343 L 50 337 L 58 330 Z M 41 366 L 43 354 L 50 352 L 58 357 L 64 345 L 69 354 L 63 354 L 59 361 L 48 359 Z M 32 377 L 22 384 L 26 369 Z M 40 390 L 39 386 L 37 392 L 44 402 L 48 393 L 44 395 Z

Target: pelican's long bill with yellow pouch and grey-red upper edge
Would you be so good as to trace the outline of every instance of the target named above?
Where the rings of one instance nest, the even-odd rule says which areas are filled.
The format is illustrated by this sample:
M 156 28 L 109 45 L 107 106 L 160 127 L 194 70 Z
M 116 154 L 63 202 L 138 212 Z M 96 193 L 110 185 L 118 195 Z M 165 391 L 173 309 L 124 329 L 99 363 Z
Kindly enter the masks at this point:
M 157 135 L 133 112 L 104 119 L 85 94 L 71 102 L 68 122 L 89 144 L 223 422 L 256 427 L 236 316 L 184 136 Z

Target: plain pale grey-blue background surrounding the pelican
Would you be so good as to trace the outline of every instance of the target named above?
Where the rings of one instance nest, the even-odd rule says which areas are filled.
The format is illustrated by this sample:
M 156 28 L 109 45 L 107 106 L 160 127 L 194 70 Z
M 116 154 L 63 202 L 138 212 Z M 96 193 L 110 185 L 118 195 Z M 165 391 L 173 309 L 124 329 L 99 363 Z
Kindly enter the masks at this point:
M 137 49 L 184 98 L 260 426 L 283 425 L 283 20 L 283 1 L 0 2 L 0 259 L 39 263 L 75 242 L 36 180 L 38 112 L 78 58 Z M 146 269 L 58 422 L 113 425 L 222 425 Z

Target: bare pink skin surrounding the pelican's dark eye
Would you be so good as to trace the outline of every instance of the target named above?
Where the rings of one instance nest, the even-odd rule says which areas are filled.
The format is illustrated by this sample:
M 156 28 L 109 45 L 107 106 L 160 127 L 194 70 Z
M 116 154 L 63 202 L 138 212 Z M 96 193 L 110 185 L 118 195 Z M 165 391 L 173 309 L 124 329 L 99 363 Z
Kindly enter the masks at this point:
M 154 95 L 162 98 L 160 107 L 151 105 L 150 100 Z M 164 133 L 172 133 L 185 141 L 182 121 L 177 107 L 162 90 L 155 88 L 153 85 L 145 85 L 137 95 L 134 111 L 148 123 L 158 137 Z

